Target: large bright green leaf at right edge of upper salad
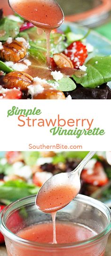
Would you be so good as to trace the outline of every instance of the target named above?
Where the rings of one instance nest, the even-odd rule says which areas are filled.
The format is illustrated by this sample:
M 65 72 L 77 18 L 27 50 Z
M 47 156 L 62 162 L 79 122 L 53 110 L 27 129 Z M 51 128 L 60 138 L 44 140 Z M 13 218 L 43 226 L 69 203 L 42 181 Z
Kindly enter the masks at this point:
M 72 75 L 72 78 L 83 87 L 96 88 L 111 81 L 111 56 L 93 57 L 87 64 L 86 74 L 82 77 Z

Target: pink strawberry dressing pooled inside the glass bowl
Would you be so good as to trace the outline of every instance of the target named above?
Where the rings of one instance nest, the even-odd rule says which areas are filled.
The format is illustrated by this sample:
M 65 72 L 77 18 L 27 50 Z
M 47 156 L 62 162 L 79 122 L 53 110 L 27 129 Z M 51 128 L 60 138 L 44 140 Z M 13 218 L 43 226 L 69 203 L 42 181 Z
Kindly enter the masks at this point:
M 38 243 L 52 243 L 52 223 L 42 223 L 28 227 L 18 232 L 17 235 L 25 240 L 36 241 Z M 83 241 L 95 235 L 97 235 L 96 232 L 80 224 L 56 223 L 56 240 L 59 244 Z

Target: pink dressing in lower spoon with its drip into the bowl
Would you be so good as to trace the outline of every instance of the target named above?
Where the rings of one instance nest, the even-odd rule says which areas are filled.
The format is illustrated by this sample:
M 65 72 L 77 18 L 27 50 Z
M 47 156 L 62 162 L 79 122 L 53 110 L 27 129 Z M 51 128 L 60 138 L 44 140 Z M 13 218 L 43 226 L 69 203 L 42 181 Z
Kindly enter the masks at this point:
M 78 194 L 78 189 L 72 185 L 52 187 L 52 190 L 40 190 L 36 198 L 37 207 L 52 215 L 53 244 L 56 244 L 56 212 L 65 207 Z

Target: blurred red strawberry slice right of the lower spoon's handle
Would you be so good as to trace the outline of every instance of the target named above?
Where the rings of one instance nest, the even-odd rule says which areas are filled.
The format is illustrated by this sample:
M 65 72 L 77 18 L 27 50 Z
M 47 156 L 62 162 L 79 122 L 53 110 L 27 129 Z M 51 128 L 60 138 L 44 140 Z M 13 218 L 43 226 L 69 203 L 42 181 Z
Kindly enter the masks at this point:
M 92 171 L 84 169 L 81 174 L 81 179 L 88 184 L 95 186 L 104 186 L 108 183 L 108 178 L 104 172 L 103 166 L 100 162 L 96 162 Z

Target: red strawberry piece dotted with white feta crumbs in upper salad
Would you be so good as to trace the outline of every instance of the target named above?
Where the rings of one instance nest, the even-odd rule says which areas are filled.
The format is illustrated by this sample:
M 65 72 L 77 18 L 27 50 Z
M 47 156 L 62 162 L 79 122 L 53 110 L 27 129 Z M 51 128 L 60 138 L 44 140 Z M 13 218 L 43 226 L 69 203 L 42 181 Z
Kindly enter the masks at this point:
M 82 66 L 88 56 L 87 48 L 81 41 L 75 41 L 68 46 L 63 54 L 70 58 L 74 68 L 79 69 Z

